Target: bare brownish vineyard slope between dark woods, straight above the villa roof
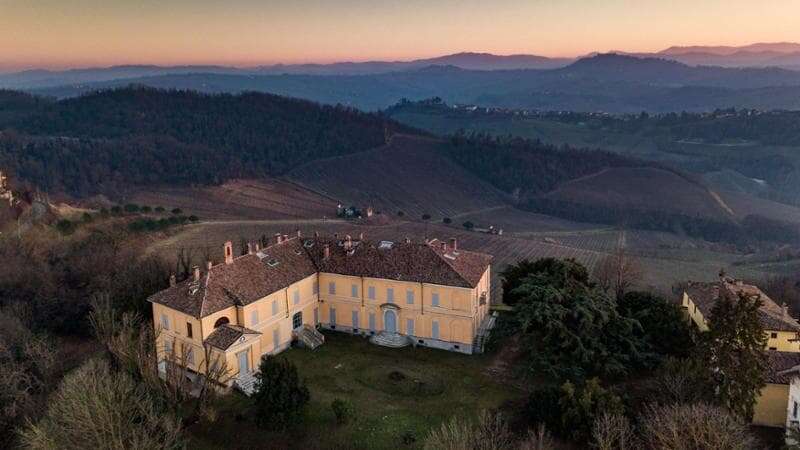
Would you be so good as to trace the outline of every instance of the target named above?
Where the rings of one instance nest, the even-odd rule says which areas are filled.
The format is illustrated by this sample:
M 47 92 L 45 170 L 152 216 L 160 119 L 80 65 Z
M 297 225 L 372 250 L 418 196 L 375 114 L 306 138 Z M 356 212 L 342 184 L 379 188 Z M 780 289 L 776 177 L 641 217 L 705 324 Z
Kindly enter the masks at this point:
M 397 135 L 384 147 L 314 161 L 287 178 L 345 205 L 412 218 L 441 220 L 507 204 L 503 193 L 440 154 L 439 142 Z

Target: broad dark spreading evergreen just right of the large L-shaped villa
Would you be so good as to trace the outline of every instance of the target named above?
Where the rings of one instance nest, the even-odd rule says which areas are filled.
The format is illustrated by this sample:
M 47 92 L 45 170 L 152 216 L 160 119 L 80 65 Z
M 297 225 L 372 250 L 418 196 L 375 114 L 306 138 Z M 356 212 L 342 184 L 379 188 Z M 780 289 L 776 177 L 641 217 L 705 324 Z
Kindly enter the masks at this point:
M 519 285 L 517 319 L 534 372 L 581 379 L 624 376 L 650 354 L 637 321 L 589 281 L 572 259 L 540 259 Z

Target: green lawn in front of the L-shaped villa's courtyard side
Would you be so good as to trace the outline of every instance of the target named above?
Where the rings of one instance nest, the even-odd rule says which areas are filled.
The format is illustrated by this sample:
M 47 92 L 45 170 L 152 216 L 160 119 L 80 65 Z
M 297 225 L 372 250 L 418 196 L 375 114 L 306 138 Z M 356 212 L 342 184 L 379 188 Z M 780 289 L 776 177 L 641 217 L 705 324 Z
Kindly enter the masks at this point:
M 189 430 L 190 447 L 420 448 L 428 431 L 450 416 L 472 415 L 521 395 L 484 373 L 490 355 L 389 349 L 343 333 L 328 332 L 325 338 L 315 351 L 283 353 L 311 391 L 302 425 L 285 433 L 260 430 L 247 412 L 249 399 L 234 393 L 220 402 L 215 423 Z M 337 397 L 355 407 L 347 425 L 335 424 L 330 403 Z

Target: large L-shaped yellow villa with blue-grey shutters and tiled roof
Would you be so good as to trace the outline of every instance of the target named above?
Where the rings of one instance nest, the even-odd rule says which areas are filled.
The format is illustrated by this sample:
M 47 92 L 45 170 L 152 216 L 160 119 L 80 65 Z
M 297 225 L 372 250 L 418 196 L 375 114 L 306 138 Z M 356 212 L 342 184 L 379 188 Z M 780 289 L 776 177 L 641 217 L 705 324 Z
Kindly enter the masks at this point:
M 204 372 L 205 358 L 226 361 L 245 392 L 261 356 L 293 342 L 315 348 L 317 328 L 369 337 L 391 347 L 482 351 L 493 324 L 488 314 L 491 256 L 462 250 L 455 239 L 367 241 L 360 236 L 276 235 L 249 244 L 224 262 L 194 268 L 189 279 L 149 298 L 164 367 L 171 352 Z M 173 354 L 174 355 L 174 354 Z

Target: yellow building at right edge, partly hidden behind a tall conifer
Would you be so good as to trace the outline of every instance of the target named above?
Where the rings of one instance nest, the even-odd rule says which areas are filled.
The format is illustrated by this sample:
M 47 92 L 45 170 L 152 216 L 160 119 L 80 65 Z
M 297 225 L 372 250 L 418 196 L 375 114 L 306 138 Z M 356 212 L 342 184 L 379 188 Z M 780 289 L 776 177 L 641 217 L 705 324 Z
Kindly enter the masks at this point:
M 689 319 L 701 331 L 708 330 L 707 318 L 722 296 L 738 299 L 739 295 L 757 296 L 761 325 L 767 334 L 767 385 L 761 390 L 755 405 L 753 423 L 768 427 L 783 427 L 787 420 L 789 382 L 784 371 L 800 364 L 800 323 L 789 315 L 788 307 L 778 305 L 757 286 L 724 275 L 713 283 L 689 283 L 683 292 L 681 306 Z

